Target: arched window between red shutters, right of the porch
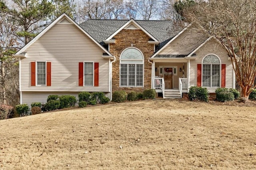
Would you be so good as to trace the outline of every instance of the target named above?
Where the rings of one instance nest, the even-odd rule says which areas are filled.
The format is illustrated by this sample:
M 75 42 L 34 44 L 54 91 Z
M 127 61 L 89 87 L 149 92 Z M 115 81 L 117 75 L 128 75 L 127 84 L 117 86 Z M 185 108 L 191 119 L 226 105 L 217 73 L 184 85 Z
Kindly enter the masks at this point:
M 204 87 L 220 87 L 220 59 L 216 55 L 207 55 L 202 64 L 202 85 Z

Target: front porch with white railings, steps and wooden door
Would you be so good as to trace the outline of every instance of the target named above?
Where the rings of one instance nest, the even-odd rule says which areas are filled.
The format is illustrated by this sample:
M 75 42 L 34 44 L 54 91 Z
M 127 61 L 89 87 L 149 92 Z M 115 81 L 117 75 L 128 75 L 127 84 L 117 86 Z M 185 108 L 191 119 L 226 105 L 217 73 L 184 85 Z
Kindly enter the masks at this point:
M 188 92 L 188 62 L 153 62 L 152 88 L 163 98 L 182 98 Z

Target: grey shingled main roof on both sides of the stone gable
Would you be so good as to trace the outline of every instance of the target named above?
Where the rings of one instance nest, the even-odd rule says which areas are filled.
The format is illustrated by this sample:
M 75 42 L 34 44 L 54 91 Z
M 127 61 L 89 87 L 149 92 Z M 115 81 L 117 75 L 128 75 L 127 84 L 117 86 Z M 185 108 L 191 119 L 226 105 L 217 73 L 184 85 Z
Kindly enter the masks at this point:
M 124 26 L 130 20 L 87 20 L 80 26 L 88 32 L 97 42 L 104 45 L 104 40 L 109 38 L 118 29 Z M 173 30 L 173 24 L 170 21 L 156 20 L 135 20 L 149 34 L 156 38 L 160 44 L 156 47 L 156 51 L 170 41 L 179 30 Z

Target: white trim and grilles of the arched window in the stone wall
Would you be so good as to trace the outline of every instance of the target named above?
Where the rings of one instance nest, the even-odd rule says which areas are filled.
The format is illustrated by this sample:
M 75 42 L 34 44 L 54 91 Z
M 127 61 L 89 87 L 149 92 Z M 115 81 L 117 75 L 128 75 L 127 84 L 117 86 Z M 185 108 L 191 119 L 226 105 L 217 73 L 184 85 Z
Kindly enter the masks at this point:
M 128 47 L 126 49 L 124 49 L 122 51 L 122 53 L 124 51 L 126 51 L 129 48 L 134 48 L 137 49 L 138 51 L 140 51 L 140 49 L 136 48 L 136 47 Z M 121 59 L 122 53 L 120 54 L 120 58 L 119 58 L 119 87 L 131 87 L 131 88 L 143 88 L 144 87 L 144 55 L 142 53 L 142 51 L 140 51 L 140 53 L 142 54 L 143 59 Z M 123 61 L 142 61 L 142 63 L 121 63 L 121 60 Z M 127 86 L 121 86 L 121 64 L 127 64 Z M 135 86 L 129 86 L 129 64 L 135 64 L 135 73 L 137 72 L 137 64 L 142 64 L 142 72 L 143 72 L 143 78 L 142 78 L 142 86 L 137 86 L 137 74 L 135 74 Z

